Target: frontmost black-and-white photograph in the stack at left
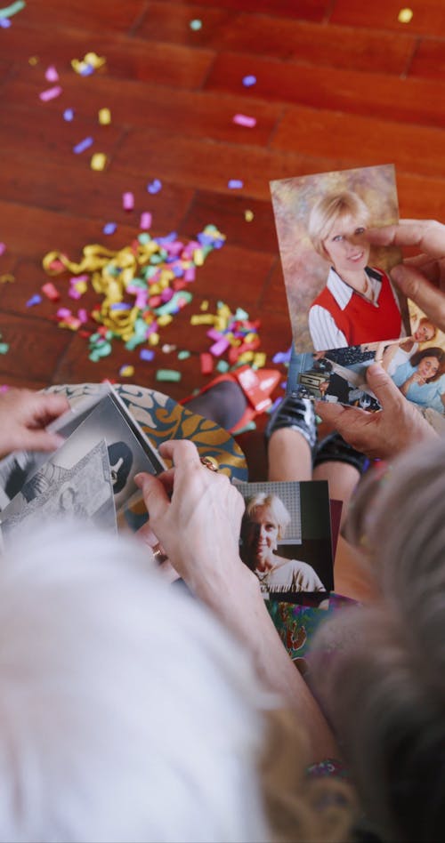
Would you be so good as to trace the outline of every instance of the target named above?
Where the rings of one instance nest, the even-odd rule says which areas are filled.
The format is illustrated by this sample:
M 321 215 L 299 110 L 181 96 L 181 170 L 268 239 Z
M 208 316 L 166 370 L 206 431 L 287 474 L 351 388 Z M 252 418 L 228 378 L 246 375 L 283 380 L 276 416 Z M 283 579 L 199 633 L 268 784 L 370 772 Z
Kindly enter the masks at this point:
M 87 453 L 69 465 L 61 446 L 40 467 L 12 502 L 0 514 L 2 540 L 8 542 L 16 530 L 32 530 L 44 521 L 82 518 L 116 532 L 116 510 L 109 470 L 109 452 L 100 439 Z

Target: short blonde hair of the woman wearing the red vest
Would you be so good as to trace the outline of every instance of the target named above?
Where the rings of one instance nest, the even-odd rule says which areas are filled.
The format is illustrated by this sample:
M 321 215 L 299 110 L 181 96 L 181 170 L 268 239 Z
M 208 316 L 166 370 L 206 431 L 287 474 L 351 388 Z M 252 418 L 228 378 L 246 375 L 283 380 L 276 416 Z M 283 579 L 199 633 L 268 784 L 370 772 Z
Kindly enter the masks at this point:
M 328 259 L 328 253 L 324 240 L 336 222 L 351 217 L 365 228 L 368 226 L 370 217 L 368 205 L 356 193 L 352 193 L 352 190 L 322 196 L 312 206 L 308 233 L 315 251 L 325 260 Z

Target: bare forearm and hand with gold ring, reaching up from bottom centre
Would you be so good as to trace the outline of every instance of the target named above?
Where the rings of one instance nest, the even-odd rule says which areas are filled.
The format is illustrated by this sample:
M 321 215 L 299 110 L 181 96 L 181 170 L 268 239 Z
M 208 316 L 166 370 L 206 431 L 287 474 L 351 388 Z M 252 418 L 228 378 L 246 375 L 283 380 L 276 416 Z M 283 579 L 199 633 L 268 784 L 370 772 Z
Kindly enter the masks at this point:
M 265 686 L 294 709 L 306 727 L 308 759 L 335 755 L 328 724 L 281 643 L 259 582 L 239 558 L 241 495 L 229 478 L 201 465 L 191 442 L 164 443 L 159 450 L 173 458 L 174 469 L 161 478 L 140 474 L 136 482 L 168 558 L 197 598 L 250 650 Z

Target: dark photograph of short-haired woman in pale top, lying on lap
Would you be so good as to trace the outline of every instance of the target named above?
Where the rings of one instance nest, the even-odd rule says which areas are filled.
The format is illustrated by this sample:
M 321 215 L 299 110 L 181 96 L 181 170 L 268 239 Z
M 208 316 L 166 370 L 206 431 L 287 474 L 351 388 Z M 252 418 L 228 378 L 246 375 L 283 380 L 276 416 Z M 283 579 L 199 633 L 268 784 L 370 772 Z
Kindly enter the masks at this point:
M 321 599 L 334 588 L 328 483 L 236 483 L 246 509 L 240 556 L 265 600 Z

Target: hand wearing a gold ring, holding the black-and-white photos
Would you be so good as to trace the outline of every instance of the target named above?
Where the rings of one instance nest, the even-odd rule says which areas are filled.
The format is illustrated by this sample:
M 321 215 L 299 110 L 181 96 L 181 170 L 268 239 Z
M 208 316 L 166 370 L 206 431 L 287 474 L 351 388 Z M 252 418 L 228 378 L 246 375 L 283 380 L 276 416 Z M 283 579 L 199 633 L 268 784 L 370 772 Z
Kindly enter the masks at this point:
M 207 587 L 238 576 L 239 567 L 247 571 L 239 558 L 244 501 L 229 478 L 202 465 L 192 442 L 165 442 L 159 452 L 174 468 L 135 478 L 150 529 L 191 590 L 205 596 Z

